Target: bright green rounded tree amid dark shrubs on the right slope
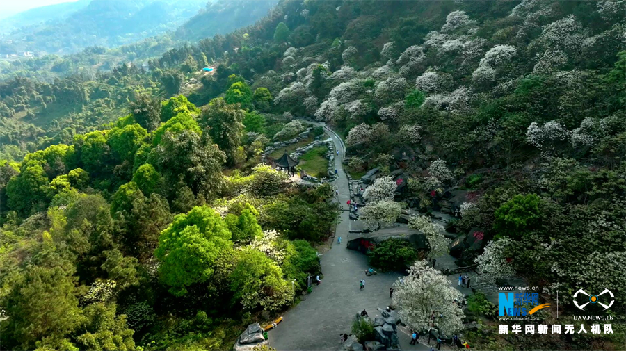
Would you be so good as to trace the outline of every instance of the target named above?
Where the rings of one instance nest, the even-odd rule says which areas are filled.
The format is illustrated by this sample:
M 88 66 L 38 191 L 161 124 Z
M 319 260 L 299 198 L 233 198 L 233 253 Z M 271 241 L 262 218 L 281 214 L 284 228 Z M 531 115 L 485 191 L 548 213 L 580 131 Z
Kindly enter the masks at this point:
M 495 211 L 494 229 L 498 236 L 519 239 L 537 229 L 541 199 L 535 194 L 515 195 Z

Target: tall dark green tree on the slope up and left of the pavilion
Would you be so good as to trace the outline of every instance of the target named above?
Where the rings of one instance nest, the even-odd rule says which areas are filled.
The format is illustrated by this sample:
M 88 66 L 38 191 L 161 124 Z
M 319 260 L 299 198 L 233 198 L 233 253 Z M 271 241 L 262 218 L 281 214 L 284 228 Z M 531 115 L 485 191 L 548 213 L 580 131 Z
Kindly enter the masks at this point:
M 243 137 L 243 117 L 246 111 L 228 105 L 224 99 L 213 99 L 202 113 L 202 122 L 211 128 L 214 142 L 226 154 L 227 163 L 234 164 L 234 153 Z

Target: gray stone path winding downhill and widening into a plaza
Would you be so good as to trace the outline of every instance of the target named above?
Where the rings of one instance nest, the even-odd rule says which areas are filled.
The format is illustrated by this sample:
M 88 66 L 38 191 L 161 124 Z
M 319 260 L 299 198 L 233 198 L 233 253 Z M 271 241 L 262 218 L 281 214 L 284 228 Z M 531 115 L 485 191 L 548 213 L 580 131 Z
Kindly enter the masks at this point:
M 327 133 L 339 150 L 339 157 L 335 158 L 339 177 L 332 184 L 339 189 L 339 204 L 342 209 L 347 209 L 348 179 L 342 168 L 345 148 L 335 133 L 328 130 Z M 287 311 L 282 323 L 268 332 L 271 347 L 278 351 L 338 350 L 342 346 L 339 334 L 351 333 L 353 318 L 358 311 L 365 309 L 369 316 L 376 317 L 379 316 L 376 308 L 385 308 L 390 303 L 389 288 L 399 274 L 379 273 L 366 277 L 367 256 L 346 249 L 349 229 L 348 211 L 342 211 L 332 247 L 321 256 L 321 284 L 314 285 L 313 293 Z M 341 245 L 337 245 L 337 236 L 342 236 Z M 365 288 L 360 291 L 362 278 Z M 398 336 L 403 350 L 429 350 L 424 345 L 409 345 L 410 336 L 403 332 Z

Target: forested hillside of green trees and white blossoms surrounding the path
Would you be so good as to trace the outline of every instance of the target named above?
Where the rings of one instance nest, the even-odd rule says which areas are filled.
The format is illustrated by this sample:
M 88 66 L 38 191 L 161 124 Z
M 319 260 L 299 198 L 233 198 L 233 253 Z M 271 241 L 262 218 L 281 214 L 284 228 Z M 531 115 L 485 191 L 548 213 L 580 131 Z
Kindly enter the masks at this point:
M 150 72 L 4 81 L 3 345 L 223 350 L 288 308 L 336 220 L 330 186 L 288 186 L 259 164 L 291 117 L 342 134 L 354 179 L 388 176 L 370 191 L 391 195 L 362 211 L 376 226 L 401 208 L 440 213 L 463 190 L 447 234 L 479 229 L 485 245 L 459 266 L 525 279 L 542 301 L 625 296 L 625 13 L 626 1 L 281 1 Z M 626 335 L 624 299 L 607 311 L 613 334 L 574 338 L 501 335 L 486 300 L 472 308 L 482 327 L 465 337 L 483 350 L 619 350 Z M 558 321 L 538 314 L 572 322 L 571 300 L 560 308 Z

